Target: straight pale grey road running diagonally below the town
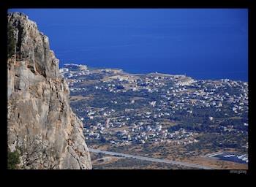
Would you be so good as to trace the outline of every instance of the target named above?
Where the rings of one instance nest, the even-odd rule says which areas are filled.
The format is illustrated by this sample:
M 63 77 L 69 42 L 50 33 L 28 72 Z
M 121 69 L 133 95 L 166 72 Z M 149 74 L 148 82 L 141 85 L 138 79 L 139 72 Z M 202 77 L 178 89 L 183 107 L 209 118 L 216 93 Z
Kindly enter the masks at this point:
M 205 167 L 199 164 L 191 164 L 191 163 L 187 163 L 187 162 L 182 162 L 182 161 L 170 161 L 167 159 L 154 159 L 154 158 L 149 158 L 149 157 L 145 157 L 145 156 L 135 156 L 135 155 L 130 155 L 130 154 L 124 154 L 124 153 L 115 153 L 115 152 L 110 152 L 110 151 L 105 151 L 105 150 L 98 150 L 98 149 L 91 149 L 89 148 L 89 151 L 91 153 L 103 153 L 106 155 L 112 155 L 112 156 L 122 156 L 125 158 L 132 158 L 132 159 L 140 159 L 140 160 L 144 160 L 144 161 L 157 161 L 157 162 L 161 162 L 161 163 L 167 163 L 167 164 L 176 164 L 176 165 L 181 165 L 184 167 L 194 167 L 197 169 L 215 169 L 213 167 Z

